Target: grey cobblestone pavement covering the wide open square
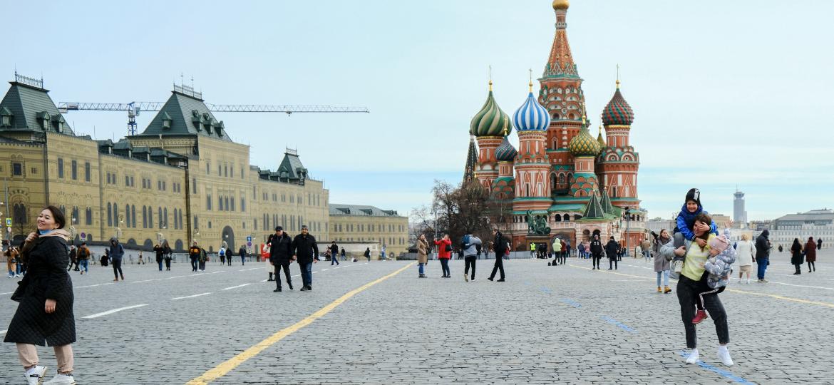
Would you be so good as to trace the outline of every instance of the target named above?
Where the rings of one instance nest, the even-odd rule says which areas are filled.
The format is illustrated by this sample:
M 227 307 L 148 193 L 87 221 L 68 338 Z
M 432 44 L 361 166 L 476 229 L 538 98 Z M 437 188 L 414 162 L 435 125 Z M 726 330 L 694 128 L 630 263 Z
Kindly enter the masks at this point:
M 834 258 L 822 253 L 817 273 L 792 276 L 776 256 L 770 283 L 731 281 L 721 294 L 730 318 L 736 365 L 716 359 L 711 320 L 699 328 L 700 365 L 686 365 L 675 293 L 656 293 L 652 263 L 626 258 L 619 270 L 590 270 L 544 260 L 505 262 L 506 283 L 486 278 L 478 263 L 465 283 L 462 261 L 452 278 L 430 262 L 347 299 L 239 364 L 214 383 L 831 383 L 834 378 Z M 171 272 L 127 265 L 128 281 L 112 269 L 73 273 L 78 383 L 187 383 L 274 333 L 409 262 L 314 265 L 314 291 L 284 283 L 273 293 L 264 263 L 205 273 L 186 263 Z M 15 279 L 0 281 L 8 296 Z M 674 283 L 673 283 L 674 285 Z M 673 286 L 674 288 L 674 286 Z M 138 306 L 143 305 L 143 306 Z M 0 302 L 0 328 L 17 303 Z M 138 306 L 136 308 L 128 308 Z M 126 308 L 114 313 L 114 309 Z M 90 316 L 95 316 L 89 318 Z M 0 383 L 23 383 L 14 345 L 0 348 Z M 55 368 L 49 348 L 42 362 Z

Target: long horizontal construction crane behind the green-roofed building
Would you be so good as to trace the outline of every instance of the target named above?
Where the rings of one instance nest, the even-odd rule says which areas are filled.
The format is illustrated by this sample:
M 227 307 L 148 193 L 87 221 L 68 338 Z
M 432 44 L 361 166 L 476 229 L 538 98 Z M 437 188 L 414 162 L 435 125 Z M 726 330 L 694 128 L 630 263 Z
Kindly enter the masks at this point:
M 175 86 L 175 91 L 189 94 L 193 97 L 202 98 L 201 92 L 194 92 L 191 87 Z M 164 102 L 128 102 L 128 103 L 105 103 L 105 102 L 59 102 L 58 111 L 67 113 L 69 111 L 92 110 L 92 111 L 127 111 L 128 112 L 128 134 L 136 135 L 136 117 L 143 111 L 159 111 Z M 211 112 L 284 112 L 287 115 L 293 113 L 334 113 L 334 112 L 370 112 L 368 107 L 334 107 L 334 106 L 292 106 L 279 104 L 212 104 L 205 103 L 208 111 Z

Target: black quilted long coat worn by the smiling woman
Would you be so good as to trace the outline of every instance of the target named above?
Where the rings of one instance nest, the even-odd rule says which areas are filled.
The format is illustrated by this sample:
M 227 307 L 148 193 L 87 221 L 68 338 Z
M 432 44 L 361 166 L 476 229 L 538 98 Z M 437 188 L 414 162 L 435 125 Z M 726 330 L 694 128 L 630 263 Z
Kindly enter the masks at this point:
M 41 236 L 33 242 L 26 276 L 18 283 L 21 288 L 16 292 L 23 295 L 4 341 L 40 346 L 74 343 L 73 282 L 67 273 L 67 242 L 59 236 Z M 56 301 L 51 314 L 43 309 L 47 298 Z

